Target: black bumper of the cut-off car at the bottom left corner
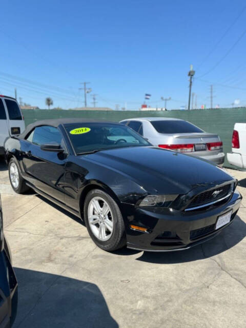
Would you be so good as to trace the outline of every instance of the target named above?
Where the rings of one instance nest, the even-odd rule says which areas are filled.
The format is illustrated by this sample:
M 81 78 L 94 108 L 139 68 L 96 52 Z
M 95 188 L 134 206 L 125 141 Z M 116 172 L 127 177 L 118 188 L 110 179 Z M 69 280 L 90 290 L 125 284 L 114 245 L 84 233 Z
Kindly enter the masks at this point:
M 5 251 L 0 252 L 0 328 L 10 327 L 17 312 L 17 280 Z

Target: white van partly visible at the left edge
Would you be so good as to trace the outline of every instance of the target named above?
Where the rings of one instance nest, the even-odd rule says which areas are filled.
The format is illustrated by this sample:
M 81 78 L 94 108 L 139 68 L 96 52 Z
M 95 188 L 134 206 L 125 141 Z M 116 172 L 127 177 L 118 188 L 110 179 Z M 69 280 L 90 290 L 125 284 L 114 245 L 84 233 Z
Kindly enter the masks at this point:
M 24 117 L 17 101 L 12 97 L 0 95 L 0 155 L 5 154 L 6 138 L 24 130 Z

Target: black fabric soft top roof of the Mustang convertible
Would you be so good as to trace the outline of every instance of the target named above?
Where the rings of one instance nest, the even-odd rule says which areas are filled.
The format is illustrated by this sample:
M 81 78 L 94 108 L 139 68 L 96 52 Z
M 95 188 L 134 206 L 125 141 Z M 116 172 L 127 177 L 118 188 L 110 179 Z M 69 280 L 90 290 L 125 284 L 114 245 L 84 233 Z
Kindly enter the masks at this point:
M 73 124 L 73 123 L 111 123 L 111 124 L 119 124 L 118 122 L 112 122 L 107 121 L 104 119 L 93 119 L 93 118 L 55 118 L 55 119 L 43 119 L 39 121 L 35 121 L 32 124 L 29 124 L 26 127 L 26 130 L 18 136 L 19 139 L 25 139 L 26 136 L 35 128 L 38 126 L 44 126 L 49 125 L 52 127 L 57 128 L 59 125 L 65 125 L 65 124 Z

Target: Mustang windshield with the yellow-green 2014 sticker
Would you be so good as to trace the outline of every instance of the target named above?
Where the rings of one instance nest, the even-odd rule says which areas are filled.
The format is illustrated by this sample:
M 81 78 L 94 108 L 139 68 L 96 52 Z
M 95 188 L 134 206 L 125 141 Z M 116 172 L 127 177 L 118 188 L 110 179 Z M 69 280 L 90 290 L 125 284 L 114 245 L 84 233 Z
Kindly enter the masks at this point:
M 65 125 L 65 129 L 77 155 L 105 149 L 151 146 L 138 133 L 119 124 L 76 123 Z

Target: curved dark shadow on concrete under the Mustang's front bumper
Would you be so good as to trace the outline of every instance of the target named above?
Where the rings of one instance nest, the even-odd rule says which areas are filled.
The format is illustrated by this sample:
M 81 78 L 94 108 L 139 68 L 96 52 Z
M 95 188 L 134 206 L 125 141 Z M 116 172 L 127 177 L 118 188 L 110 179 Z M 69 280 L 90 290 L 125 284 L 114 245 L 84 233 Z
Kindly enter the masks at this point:
M 234 222 L 216 237 L 193 248 L 175 252 L 144 252 L 136 260 L 158 264 L 184 263 L 206 259 L 238 244 L 246 236 L 246 224 L 236 216 Z

